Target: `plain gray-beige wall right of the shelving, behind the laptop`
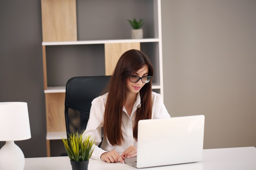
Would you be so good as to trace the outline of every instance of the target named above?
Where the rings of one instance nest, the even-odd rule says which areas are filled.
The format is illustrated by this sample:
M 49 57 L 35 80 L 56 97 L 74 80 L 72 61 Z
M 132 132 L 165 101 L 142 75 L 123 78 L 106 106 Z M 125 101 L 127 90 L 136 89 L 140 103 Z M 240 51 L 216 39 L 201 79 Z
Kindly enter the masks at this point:
M 256 1 L 162 0 L 164 102 L 204 148 L 256 146 Z

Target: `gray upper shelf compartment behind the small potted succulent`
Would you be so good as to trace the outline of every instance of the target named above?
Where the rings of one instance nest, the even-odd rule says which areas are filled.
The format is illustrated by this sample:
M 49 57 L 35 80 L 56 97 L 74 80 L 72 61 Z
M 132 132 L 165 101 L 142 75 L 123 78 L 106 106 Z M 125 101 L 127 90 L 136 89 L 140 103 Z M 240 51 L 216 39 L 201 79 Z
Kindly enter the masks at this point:
M 128 39 L 127 19 L 144 19 L 144 38 L 158 38 L 157 0 L 76 0 L 78 40 Z M 160 5 L 160 4 L 159 4 Z M 115 42 L 114 42 L 115 43 Z

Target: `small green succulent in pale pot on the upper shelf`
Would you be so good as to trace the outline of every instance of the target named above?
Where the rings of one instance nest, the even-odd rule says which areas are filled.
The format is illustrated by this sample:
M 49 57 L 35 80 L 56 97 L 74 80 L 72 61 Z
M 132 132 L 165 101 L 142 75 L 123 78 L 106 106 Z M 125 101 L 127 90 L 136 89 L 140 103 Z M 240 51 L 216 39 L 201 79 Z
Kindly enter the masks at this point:
M 130 25 L 132 26 L 131 34 L 132 39 L 142 39 L 143 38 L 143 29 L 141 29 L 141 26 L 144 24 L 144 19 L 140 19 L 137 21 L 135 18 L 133 20 L 128 20 Z

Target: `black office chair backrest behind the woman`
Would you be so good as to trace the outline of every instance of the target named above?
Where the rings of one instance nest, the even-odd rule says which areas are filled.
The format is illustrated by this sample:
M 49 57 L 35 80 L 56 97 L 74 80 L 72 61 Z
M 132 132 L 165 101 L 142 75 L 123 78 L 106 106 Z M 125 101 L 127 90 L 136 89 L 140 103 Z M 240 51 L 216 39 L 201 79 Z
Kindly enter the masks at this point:
M 92 100 L 103 95 L 111 76 L 73 77 L 67 81 L 65 121 L 67 137 L 70 132 L 83 132 L 89 119 Z

